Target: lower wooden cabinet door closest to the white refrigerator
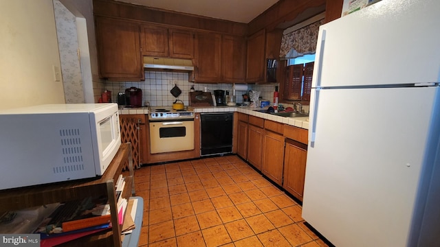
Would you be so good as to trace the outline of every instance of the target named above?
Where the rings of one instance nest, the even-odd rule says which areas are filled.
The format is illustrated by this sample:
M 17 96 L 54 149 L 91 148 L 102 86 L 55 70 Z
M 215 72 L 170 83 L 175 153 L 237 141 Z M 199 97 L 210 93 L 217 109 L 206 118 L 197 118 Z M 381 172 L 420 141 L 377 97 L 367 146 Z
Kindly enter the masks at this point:
M 296 141 L 287 141 L 284 158 L 283 188 L 303 201 L 307 145 Z

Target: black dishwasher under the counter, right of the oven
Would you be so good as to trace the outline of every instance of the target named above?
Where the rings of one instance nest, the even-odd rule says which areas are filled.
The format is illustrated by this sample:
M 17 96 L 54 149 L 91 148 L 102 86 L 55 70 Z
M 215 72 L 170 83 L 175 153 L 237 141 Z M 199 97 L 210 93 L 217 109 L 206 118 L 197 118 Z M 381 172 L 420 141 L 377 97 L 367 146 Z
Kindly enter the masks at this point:
M 201 113 L 200 155 L 232 152 L 234 113 Z

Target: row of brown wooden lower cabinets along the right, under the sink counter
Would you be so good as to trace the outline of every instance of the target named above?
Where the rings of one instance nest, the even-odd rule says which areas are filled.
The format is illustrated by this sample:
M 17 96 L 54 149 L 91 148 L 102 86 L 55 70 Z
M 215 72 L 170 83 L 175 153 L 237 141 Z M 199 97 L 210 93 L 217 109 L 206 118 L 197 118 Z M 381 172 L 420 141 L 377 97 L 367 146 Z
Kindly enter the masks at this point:
M 236 153 L 303 201 L 308 131 L 243 113 L 237 117 Z

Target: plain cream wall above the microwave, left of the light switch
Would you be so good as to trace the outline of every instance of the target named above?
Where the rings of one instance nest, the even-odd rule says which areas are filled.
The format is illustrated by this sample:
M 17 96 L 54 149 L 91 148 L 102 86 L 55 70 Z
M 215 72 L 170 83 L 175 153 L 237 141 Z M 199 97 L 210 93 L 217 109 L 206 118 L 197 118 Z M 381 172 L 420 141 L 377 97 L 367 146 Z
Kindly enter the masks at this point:
M 0 109 L 65 103 L 52 0 L 0 1 Z

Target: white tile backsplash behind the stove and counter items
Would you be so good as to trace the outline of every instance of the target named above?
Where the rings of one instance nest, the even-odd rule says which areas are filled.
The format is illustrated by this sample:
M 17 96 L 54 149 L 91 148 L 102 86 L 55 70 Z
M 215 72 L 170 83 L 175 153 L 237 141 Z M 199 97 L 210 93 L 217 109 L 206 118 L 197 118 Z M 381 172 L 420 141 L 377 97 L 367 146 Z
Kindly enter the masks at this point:
M 107 80 L 105 89 L 111 91 L 113 102 L 117 102 L 118 93 L 124 92 L 125 89 L 129 89 L 131 86 L 135 86 L 138 89 L 142 89 L 143 105 L 172 106 L 176 98 L 171 95 L 170 90 L 173 89 L 175 84 L 181 90 L 181 95 L 177 99 L 183 101 L 186 106 L 189 104 L 189 92 L 192 85 L 194 85 L 196 91 L 204 91 L 206 87 L 212 94 L 214 94 L 216 89 L 229 91 L 232 94 L 232 86 L 234 86 L 232 83 L 203 84 L 188 82 L 188 73 L 145 71 L 145 81 L 113 82 Z M 278 86 L 278 84 L 248 84 L 248 91 L 259 91 L 261 98 L 269 100 L 272 105 L 275 86 Z M 248 93 L 248 91 L 236 91 L 236 102 L 243 102 L 242 95 Z

